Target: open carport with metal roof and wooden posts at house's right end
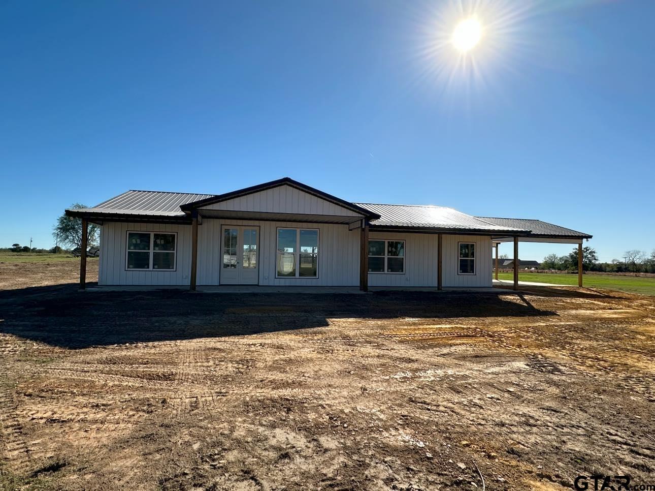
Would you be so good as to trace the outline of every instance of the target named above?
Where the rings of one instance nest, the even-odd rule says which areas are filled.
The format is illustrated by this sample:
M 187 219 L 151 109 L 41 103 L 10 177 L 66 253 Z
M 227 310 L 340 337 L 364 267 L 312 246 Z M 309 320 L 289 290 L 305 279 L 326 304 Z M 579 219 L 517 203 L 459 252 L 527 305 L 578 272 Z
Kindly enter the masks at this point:
M 514 290 L 519 289 L 519 242 L 543 242 L 550 244 L 577 244 L 578 245 L 578 286 L 582 286 L 582 241 L 591 239 L 591 235 L 578 232 L 559 225 L 549 224 L 541 220 L 529 220 L 526 218 L 496 218 L 489 216 L 478 216 L 500 227 L 513 227 L 529 230 L 527 234 L 511 236 L 493 236 L 495 254 L 495 279 L 498 279 L 498 245 L 504 242 L 514 243 Z

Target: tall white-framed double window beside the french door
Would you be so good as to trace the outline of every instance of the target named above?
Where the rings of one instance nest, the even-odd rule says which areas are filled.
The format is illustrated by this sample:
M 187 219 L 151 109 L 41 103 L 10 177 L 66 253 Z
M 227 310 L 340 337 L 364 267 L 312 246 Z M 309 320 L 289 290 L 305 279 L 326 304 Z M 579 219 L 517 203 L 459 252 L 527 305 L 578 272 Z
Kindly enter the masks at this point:
M 277 229 L 276 278 L 318 278 L 318 229 Z

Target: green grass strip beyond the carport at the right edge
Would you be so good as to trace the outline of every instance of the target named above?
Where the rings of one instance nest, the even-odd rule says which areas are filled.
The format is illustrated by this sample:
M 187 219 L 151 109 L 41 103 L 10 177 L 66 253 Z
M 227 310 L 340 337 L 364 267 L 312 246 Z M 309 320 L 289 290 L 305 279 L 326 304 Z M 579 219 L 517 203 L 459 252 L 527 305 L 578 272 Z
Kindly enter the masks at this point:
M 498 273 L 498 279 L 512 280 L 512 278 L 512 273 Z M 538 281 L 539 283 L 578 286 L 578 275 L 519 272 L 519 281 Z M 610 290 L 623 290 L 624 292 L 655 295 L 655 278 L 584 275 L 583 284 L 589 288 L 609 288 Z

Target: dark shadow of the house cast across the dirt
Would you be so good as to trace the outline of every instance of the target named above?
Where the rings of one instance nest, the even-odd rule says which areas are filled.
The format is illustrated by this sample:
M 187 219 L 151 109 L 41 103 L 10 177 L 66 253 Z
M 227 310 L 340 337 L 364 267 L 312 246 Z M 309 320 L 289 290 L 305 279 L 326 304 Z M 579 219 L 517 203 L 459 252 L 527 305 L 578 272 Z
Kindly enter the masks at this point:
M 534 294 L 534 293 L 533 293 Z M 538 293 L 536 293 L 538 294 Z M 544 296 L 593 296 L 546 288 Z M 523 292 L 361 294 L 79 292 L 73 284 L 0 292 L 0 332 L 80 349 L 326 327 L 330 318 L 544 317 Z

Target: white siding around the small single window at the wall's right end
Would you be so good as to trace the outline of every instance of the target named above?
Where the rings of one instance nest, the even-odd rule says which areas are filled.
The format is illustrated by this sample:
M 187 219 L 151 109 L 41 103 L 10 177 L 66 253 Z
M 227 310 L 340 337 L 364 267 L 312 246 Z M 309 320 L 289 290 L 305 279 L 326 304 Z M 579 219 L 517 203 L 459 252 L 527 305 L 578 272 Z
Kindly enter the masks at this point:
M 459 275 L 458 243 L 476 244 L 476 274 Z M 443 236 L 443 286 L 491 286 L 491 237 L 482 235 Z

